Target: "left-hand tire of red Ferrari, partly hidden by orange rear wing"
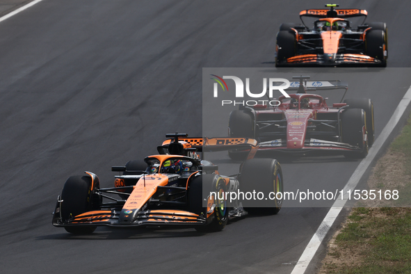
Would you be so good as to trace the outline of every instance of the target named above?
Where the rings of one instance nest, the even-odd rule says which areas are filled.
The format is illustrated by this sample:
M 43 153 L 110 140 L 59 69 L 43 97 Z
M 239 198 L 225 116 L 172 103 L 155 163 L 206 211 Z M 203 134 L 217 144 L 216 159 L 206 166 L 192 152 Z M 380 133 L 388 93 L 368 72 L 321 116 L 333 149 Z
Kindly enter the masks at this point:
M 251 113 L 243 110 L 232 111 L 231 113 L 229 113 L 229 137 L 254 138 L 254 127 L 255 122 L 254 118 L 252 118 Z M 235 161 L 243 161 L 248 156 L 248 152 L 229 150 L 228 156 Z

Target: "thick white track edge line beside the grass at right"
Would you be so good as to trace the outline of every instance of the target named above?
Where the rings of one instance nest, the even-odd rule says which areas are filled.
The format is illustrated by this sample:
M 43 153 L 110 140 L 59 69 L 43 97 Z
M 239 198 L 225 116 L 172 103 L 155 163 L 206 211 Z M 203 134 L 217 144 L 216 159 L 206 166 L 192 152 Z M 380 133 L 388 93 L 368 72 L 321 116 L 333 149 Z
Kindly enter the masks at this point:
M 391 134 L 391 132 L 394 130 L 394 127 L 396 127 L 396 124 L 398 124 L 398 121 L 403 116 L 405 110 L 410 104 L 410 101 L 411 86 L 410 88 L 408 88 L 403 99 L 401 99 L 401 102 L 398 104 L 396 110 L 394 111 L 394 114 L 392 115 L 391 119 L 389 119 L 385 128 L 382 129 L 380 136 L 378 136 L 373 147 L 371 147 L 368 156 L 361 161 L 360 165 L 358 165 L 355 171 L 353 172 L 353 175 L 351 175 L 346 186 L 344 187 L 343 193 L 346 193 L 346 191 L 348 190 L 353 191 L 355 189 L 362 175 L 364 175 L 364 172 L 369 168 L 371 162 L 376 157 L 382 145 L 384 145 L 385 141 L 389 137 L 389 134 Z M 314 236 L 312 236 L 311 241 L 309 241 L 307 247 L 303 252 L 303 255 L 301 255 L 300 259 L 298 259 L 298 262 L 296 266 L 294 266 L 293 272 L 291 272 L 291 274 L 305 273 L 305 271 L 307 270 L 307 266 L 309 265 L 309 262 L 312 260 L 316 251 L 319 249 L 319 246 L 321 245 L 321 242 L 323 241 L 325 235 L 330 230 L 331 225 L 334 223 L 335 219 L 339 215 L 341 209 L 344 207 L 346 202 L 347 200 L 341 200 L 340 194 L 339 198 L 335 201 L 334 204 L 332 204 L 330 211 L 328 211 L 327 215 L 325 216 L 323 222 L 317 229 Z

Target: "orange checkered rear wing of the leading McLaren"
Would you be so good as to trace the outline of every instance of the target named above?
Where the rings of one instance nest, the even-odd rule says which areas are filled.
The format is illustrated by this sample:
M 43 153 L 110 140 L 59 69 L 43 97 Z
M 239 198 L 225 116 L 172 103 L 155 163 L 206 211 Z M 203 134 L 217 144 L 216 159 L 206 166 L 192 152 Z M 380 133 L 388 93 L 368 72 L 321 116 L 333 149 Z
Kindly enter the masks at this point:
M 170 150 L 170 144 L 184 141 L 191 146 L 185 150 L 187 152 L 193 150 L 202 152 L 202 159 L 204 159 L 204 152 L 220 152 L 225 150 L 250 150 L 247 159 L 252 159 L 259 148 L 257 140 L 252 138 L 187 138 L 187 136 L 187 134 L 166 134 L 166 137 L 173 138 L 165 140 L 161 146 L 157 147 L 157 150 L 160 154 L 166 154 Z M 184 146 L 184 144 L 182 145 Z M 180 152 L 184 154 L 184 150 Z

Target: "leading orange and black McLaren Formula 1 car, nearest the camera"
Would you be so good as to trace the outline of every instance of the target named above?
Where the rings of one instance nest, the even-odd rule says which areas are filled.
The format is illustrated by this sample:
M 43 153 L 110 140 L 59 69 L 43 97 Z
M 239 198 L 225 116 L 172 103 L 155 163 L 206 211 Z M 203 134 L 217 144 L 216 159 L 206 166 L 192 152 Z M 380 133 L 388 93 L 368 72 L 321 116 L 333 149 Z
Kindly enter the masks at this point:
M 114 166 L 120 172 L 114 187 L 100 188 L 92 172 L 67 179 L 54 210 L 53 225 L 74 234 L 92 233 L 99 225 L 137 227 L 181 225 L 201 232 L 219 231 L 229 218 L 247 214 L 244 206 L 255 208 L 252 197 L 232 199 L 229 193 L 263 192 L 271 199 L 257 204 L 260 211 L 277 213 L 282 206 L 281 166 L 274 159 L 252 159 L 257 141 L 245 138 L 171 138 L 157 147 L 159 154 L 144 161 Z M 198 153 L 248 147 L 250 154 L 239 174 L 224 176 L 218 166 L 200 159 Z M 259 184 L 257 184 L 257 182 Z

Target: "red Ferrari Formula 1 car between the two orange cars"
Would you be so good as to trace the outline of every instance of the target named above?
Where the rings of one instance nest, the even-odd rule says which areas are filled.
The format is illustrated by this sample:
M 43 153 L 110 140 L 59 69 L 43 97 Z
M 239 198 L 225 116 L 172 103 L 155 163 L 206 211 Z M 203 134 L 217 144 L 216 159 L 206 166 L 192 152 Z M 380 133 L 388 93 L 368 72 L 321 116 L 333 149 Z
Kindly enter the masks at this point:
M 344 99 L 348 84 L 339 80 L 307 81 L 294 76 L 290 98 L 281 96 L 279 106 L 245 106 L 229 115 L 229 136 L 255 138 L 259 151 L 293 154 L 332 152 L 348 158 L 364 158 L 374 142 L 371 99 Z M 345 89 L 341 102 L 328 106 L 326 98 L 309 90 Z M 343 102 L 344 99 L 344 102 Z M 232 159 L 242 159 L 247 150 L 229 150 Z

